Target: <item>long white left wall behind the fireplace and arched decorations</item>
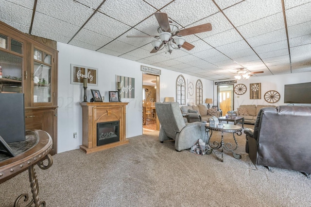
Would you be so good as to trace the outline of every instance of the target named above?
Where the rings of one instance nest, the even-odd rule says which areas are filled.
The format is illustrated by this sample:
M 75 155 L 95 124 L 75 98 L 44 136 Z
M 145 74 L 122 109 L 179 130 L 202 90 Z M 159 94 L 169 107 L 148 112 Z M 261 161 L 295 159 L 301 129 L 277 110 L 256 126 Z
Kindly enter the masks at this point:
M 142 100 L 142 71 L 141 65 L 157 68 L 135 61 L 94 52 L 72 45 L 57 43 L 58 53 L 58 150 L 65 152 L 78 149 L 82 144 L 82 85 L 70 84 L 70 64 L 87 66 L 98 69 L 98 86 L 87 87 L 87 101 L 92 97 L 90 89 L 98 89 L 104 102 L 108 102 L 108 91 L 116 90 L 116 75 L 135 78 L 135 98 L 121 99 L 129 102 L 126 108 L 126 138 L 142 134 L 141 100 Z M 160 101 L 164 97 L 175 97 L 176 78 L 181 73 L 161 69 Z M 187 79 L 196 80 L 197 77 L 182 74 Z M 201 79 L 203 84 L 203 100 L 213 97 L 213 82 Z M 195 84 L 194 82 L 194 84 Z M 187 100 L 195 102 L 195 100 Z M 77 138 L 73 133 L 77 132 Z

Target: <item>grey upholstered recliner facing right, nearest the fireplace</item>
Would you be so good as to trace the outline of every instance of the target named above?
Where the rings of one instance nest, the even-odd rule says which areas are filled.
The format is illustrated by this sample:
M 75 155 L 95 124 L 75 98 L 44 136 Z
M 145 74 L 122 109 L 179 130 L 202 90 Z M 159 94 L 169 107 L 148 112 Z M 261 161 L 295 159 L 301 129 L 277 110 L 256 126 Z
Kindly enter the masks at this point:
M 174 139 L 175 150 L 177 151 L 190 149 L 198 139 L 207 142 L 206 121 L 185 122 L 177 102 L 157 102 L 155 103 L 155 111 L 161 124 L 160 142 Z

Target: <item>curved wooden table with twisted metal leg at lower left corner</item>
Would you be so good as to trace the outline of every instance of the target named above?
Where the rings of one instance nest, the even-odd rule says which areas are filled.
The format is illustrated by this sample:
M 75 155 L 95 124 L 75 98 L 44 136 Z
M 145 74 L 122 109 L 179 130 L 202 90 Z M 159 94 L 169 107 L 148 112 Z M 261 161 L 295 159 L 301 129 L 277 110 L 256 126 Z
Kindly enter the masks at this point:
M 52 149 L 52 138 L 42 130 L 26 130 L 26 139 L 27 136 L 36 138 L 35 145 L 15 157 L 0 161 L 0 184 L 28 169 L 33 198 L 28 202 L 28 194 L 23 193 L 15 200 L 14 207 L 20 206 L 19 203 L 21 202 L 28 202 L 26 207 L 30 207 L 33 204 L 35 204 L 35 207 L 45 207 L 45 202 L 39 201 L 39 186 L 35 165 L 38 165 L 42 170 L 52 166 L 53 158 L 49 154 Z

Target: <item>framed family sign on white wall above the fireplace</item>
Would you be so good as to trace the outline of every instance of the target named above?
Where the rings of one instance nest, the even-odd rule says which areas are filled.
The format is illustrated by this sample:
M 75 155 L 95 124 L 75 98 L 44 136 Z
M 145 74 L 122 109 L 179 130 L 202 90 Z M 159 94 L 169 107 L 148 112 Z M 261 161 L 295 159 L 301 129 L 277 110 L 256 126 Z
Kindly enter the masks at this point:
M 87 84 L 97 86 L 97 69 L 71 64 L 70 84 L 83 85 L 84 78 L 87 78 Z

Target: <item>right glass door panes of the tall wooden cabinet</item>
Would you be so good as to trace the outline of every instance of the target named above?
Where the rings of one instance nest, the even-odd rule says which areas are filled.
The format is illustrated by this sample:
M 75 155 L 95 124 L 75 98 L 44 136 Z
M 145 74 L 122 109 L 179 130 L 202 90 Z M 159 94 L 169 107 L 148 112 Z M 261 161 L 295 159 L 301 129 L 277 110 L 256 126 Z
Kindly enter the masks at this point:
M 50 103 L 51 100 L 51 55 L 34 49 L 34 103 Z

